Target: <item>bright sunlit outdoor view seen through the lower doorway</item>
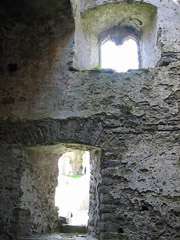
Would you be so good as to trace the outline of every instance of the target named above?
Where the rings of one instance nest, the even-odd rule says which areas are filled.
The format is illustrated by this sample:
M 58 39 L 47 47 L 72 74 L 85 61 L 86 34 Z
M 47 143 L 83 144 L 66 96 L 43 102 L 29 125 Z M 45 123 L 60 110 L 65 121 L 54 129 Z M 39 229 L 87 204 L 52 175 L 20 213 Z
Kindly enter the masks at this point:
M 59 208 L 59 216 L 65 217 L 72 225 L 88 223 L 89 158 L 88 151 L 75 151 L 63 154 L 58 161 L 55 205 Z

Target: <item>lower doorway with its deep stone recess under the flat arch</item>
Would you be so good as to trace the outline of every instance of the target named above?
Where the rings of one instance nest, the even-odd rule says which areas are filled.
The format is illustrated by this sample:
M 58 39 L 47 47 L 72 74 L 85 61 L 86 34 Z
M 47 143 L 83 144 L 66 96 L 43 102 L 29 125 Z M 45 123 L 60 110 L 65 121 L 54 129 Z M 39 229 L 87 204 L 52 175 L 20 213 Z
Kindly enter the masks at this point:
M 102 181 L 101 176 L 101 155 L 102 150 L 98 147 L 87 146 L 83 144 L 76 143 L 56 143 L 51 145 L 37 145 L 33 147 L 27 147 L 25 149 L 24 157 L 24 172 L 21 179 L 21 206 L 18 212 L 18 222 L 19 222 L 19 234 L 20 236 L 30 236 L 32 234 L 38 233 L 48 233 L 56 231 L 59 227 L 62 226 L 63 222 L 58 217 L 58 207 L 55 206 L 55 193 L 58 186 L 58 178 L 60 171 L 58 170 L 58 163 L 62 165 L 62 159 L 60 157 L 63 154 L 77 153 L 78 157 L 81 160 L 80 162 L 74 164 L 70 161 L 69 172 L 64 172 L 68 181 L 76 180 L 77 182 L 83 182 L 83 188 L 85 188 L 89 200 L 85 199 L 87 204 L 86 209 L 82 204 L 80 210 L 86 210 L 88 215 L 86 215 L 86 221 L 83 225 L 87 223 L 88 218 L 88 231 L 93 232 L 95 229 L 94 223 L 99 221 L 100 218 L 100 208 L 99 208 L 99 185 Z M 69 157 L 71 157 L 71 154 Z M 86 157 L 85 157 L 86 156 Z M 58 159 L 60 160 L 58 161 Z M 90 160 L 90 166 L 85 164 L 85 160 Z M 88 162 L 88 161 L 87 161 Z M 74 165 L 73 165 L 74 164 Z M 79 164 L 79 165 L 78 165 Z M 68 164 L 67 164 L 68 166 Z M 90 170 L 89 170 L 90 169 Z M 79 170 L 79 171 L 78 171 Z M 61 174 L 63 175 L 63 174 Z M 90 177 L 90 182 L 84 183 L 85 178 Z M 73 199 L 73 204 L 76 201 L 76 198 L 80 196 L 80 200 L 83 203 L 83 197 L 85 193 L 83 188 L 80 188 L 74 191 L 73 187 L 71 189 L 74 193 L 64 200 L 68 202 L 70 198 Z M 86 186 L 86 187 L 85 187 Z M 90 188 L 90 190 L 89 190 Z M 66 190 L 68 193 L 70 191 Z M 71 192 L 72 193 L 72 192 Z M 66 195 L 61 193 L 59 197 L 64 197 Z M 56 195 L 57 198 L 58 195 Z M 57 201 L 57 200 L 56 200 Z M 76 215 L 76 211 L 73 211 L 74 219 L 71 219 L 71 203 L 68 211 L 70 212 L 70 222 L 73 223 Z M 75 208 L 75 210 L 78 207 Z M 88 210 L 87 210 L 88 209 Z M 61 211 L 62 210 L 62 211 Z M 64 209 L 59 209 L 59 215 Z M 79 213 L 82 213 L 81 211 Z M 82 217 L 81 217 L 82 219 Z M 70 223 L 70 224 L 72 224 Z M 76 222 L 77 223 L 77 222 Z M 74 223 L 73 223 L 74 224 Z M 82 224 L 82 222 L 79 222 Z

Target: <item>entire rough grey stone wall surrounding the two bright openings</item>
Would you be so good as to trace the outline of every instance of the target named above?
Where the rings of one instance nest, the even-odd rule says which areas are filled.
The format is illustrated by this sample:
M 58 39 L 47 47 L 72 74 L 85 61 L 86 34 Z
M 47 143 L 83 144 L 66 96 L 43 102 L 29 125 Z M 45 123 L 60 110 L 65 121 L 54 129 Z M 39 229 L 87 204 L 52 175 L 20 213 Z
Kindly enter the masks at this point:
M 0 16 L 0 240 L 58 231 L 57 163 L 69 149 L 90 151 L 89 234 L 179 240 L 179 6 L 8 0 Z M 81 71 L 80 53 L 99 61 L 99 36 L 122 22 L 138 23 L 141 68 Z

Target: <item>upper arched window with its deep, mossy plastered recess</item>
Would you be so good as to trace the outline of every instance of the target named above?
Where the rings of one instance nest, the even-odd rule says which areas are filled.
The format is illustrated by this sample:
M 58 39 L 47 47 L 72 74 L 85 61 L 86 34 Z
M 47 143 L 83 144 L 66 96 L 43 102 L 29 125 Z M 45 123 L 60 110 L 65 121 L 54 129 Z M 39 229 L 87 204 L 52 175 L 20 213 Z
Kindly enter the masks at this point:
M 91 69 L 100 64 L 103 68 L 115 68 L 117 71 L 155 67 L 160 58 L 160 48 L 157 44 L 159 28 L 157 8 L 142 1 L 110 2 L 119 3 L 102 4 L 81 14 L 78 13 L 75 19 L 73 66 L 79 69 Z M 111 45 L 118 46 L 117 50 L 114 50 L 116 52 L 114 56 L 108 55 L 111 62 L 118 58 L 115 60 L 117 67 L 104 66 L 103 55 L 106 54 L 103 48 L 110 45 L 108 38 L 112 41 Z M 130 45 L 134 45 L 136 50 L 132 50 Z M 109 51 L 113 52 L 113 50 Z M 121 51 L 125 52 L 125 55 L 121 54 L 122 63 L 120 58 L 116 57 Z M 136 64 L 129 66 L 126 64 L 127 67 L 122 68 L 125 63 L 134 62 L 132 52 L 136 55 Z

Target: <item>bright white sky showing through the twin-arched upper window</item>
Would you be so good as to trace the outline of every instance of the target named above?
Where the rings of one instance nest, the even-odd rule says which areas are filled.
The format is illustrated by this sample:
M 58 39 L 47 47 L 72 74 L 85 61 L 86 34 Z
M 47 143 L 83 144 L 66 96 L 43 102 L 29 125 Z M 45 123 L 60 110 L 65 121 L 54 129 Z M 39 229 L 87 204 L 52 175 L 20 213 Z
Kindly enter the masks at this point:
M 117 72 L 138 69 L 138 49 L 134 39 L 128 38 L 122 45 L 116 46 L 111 40 L 101 46 L 101 67 L 112 68 Z

